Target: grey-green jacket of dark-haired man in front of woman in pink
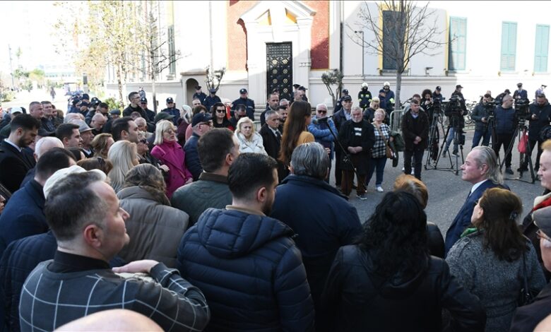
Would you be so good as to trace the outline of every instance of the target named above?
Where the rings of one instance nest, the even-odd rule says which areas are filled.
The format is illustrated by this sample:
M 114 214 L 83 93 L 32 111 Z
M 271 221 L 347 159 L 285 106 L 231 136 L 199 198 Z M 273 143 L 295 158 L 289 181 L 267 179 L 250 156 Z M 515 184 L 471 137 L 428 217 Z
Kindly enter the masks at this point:
M 171 202 L 189 214 L 189 227 L 193 226 L 208 208 L 226 208 L 232 203 L 232 193 L 227 186 L 227 177 L 202 172 L 199 181 L 181 186 L 172 194 Z

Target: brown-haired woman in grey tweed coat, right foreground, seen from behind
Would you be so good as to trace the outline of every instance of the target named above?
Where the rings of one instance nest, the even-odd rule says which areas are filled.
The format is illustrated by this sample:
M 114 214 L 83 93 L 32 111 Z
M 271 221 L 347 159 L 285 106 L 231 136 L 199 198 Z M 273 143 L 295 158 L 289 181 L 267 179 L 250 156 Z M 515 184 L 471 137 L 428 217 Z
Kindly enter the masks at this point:
M 521 212 L 519 196 L 487 189 L 473 210 L 474 227 L 463 232 L 446 257 L 451 273 L 485 308 L 487 332 L 509 331 L 525 273 L 534 292 L 545 285 L 535 249 L 517 224 Z

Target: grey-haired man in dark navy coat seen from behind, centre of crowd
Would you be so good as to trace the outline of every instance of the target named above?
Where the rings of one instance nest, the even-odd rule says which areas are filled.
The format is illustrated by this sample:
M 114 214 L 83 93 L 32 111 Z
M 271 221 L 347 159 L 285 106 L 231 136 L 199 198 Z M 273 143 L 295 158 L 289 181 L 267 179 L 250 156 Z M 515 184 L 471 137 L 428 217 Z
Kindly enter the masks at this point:
M 315 309 L 319 309 L 321 292 L 338 248 L 351 244 L 362 231 L 356 208 L 324 181 L 329 164 L 321 144 L 297 146 L 291 156 L 291 174 L 278 186 L 271 213 L 272 218 L 281 220 L 298 235 L 295 242 L 302 253 Z M 316 316 L 316 323 L 318 320 Z

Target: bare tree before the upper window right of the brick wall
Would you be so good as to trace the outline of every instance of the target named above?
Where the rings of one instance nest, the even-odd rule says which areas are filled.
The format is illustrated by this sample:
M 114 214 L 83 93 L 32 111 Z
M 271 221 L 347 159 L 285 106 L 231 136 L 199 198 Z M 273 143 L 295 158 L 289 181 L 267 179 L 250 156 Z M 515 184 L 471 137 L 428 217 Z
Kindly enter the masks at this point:
M 436 11 L 428 6 L 429 2 L 417 6 L 415 1 L 384 0 L 378 4 L 377 13 L 372 13 L 364 3 L 355 23 L 357 28 L 348 25 L 348 37 L 353 42 L 367 47 L 371 54 L 382 55 L 384 63 L 396 69 L 395 109 L 400 109 L 402 74 L 408 69 L 411 59 L 420 53 L 439 54 L 437 49 L 447 45 L 447 42 L 439 42 L 443 30 L 437 28 Z M 353 31 L 360 30 L 358 28 L 372 32 L 374 39 L 357 37 Z

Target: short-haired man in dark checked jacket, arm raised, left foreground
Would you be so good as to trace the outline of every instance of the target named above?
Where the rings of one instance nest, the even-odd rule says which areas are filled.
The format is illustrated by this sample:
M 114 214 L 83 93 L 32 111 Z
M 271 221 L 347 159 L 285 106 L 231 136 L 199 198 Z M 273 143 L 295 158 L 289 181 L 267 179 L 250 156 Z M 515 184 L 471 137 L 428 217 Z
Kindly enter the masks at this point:
M 54 259 L 40 263 L 23 285 L 21 331 L 49 331 L 117 308 L 149 316 L 164 331 L 206 327 L 210 311 L 203 293 L 177 270 L 153 260 L 109 267 L 129 242 L 124 227 L 129 215 L 105 174 L 81 172 L 61 179 L 49 191 L 45 215 L 58 248 Z M 149 273 L 155 283 L 115 273 Z M 73 309 L 60 309 L 68 307 Z

